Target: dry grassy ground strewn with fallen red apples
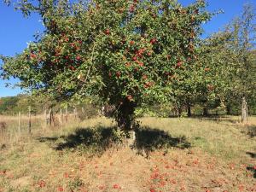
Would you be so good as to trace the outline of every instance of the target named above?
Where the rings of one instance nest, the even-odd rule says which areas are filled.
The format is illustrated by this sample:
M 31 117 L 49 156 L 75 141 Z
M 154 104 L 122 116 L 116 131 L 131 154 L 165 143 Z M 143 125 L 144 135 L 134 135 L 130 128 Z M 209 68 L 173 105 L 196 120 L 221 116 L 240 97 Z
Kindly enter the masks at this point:
M 250 135 L 255 117 L 248 125 L 236 117 L 140 120 L 172 137 L 184 136 L 191 148 L 159 149 L 145 158 L 113 146 L 96 155 L 97 145 L 83 148 L 67 138 L 81 129 L 111 127 L 109 119 L 73 122 L 45 133 L 38 127 L 0 150 L 0 191 L 256 191 L 256 137 Z M 75 147 L 56 149 L 67 141 Z

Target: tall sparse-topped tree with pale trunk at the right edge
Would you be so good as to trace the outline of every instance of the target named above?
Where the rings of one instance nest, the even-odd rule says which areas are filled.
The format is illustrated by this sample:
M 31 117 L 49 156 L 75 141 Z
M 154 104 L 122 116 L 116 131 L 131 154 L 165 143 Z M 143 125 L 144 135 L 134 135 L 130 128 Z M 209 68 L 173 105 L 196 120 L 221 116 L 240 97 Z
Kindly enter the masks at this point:
M 239 18 L 230 24 L 230 32 L 233 40 L 230 41 L 230 49 L 236 55 L 233 63 L 232 78 L 233 89 L 231 90 L 241 100 L 241 121 L 248 118 L 248 101 L 255 95 L 256 62 L 255 62 L 255 39 L 256 39 L 256 15 L 253 5 L 246 4 Z

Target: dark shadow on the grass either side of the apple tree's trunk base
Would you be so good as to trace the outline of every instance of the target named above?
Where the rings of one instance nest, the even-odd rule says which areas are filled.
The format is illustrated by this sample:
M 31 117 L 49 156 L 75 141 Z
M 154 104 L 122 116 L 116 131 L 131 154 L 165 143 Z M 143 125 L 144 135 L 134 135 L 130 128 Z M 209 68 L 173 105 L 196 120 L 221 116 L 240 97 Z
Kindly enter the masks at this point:
M 121 144 L 122 137 L 116 127 L 78 128 L 72 134 L 61 137 L 40 137 L 39 142 L 50 143 L 55 150 L 81 150 L 90 155 L 101 155 L 108 148 Z M 161 148 L 190 148 L 185 137 L 172 137 L 168 132 L 149 127 L 136 131 L 136 141 L 132 146 L 138 152 L 153 152 Z M 140 153 L 138 153 L 140 154 Z

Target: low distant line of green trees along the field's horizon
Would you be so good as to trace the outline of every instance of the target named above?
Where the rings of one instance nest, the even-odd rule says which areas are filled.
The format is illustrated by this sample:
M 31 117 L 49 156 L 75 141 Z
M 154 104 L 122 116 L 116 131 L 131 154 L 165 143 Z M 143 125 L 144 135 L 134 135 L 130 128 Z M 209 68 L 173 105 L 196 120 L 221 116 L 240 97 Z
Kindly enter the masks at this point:
M 252 101 L 252 100 L 251 100 Z M 249 114 L 256 114 L 256 99 L 249 105 Z M 177 108 L 177 106 L 179 106 Z M 6 96 L 0 98 L 0 114 L 15 115 L 17 113 L 27 113 L 28 108 L 31 107 L 32 114 L 44 113 L 44 108 L 49 108 L 46 106 L 42 99 L 35 98 L 29 95 L 18 95 L 18 96 Z M 70 102 L 67 106 L 69 113 L 73 112 L 73 108 L 77 107 L 80 112 L 96 114 L 102 108 L 101 104 L 91 104 L 90 102 L 80 102 L 75 104 Z M 55 104 L 55 112 L 59 112 L 61 103 Z M 240 115 L 241 114 L 241 103 L 237 100 L 229 101 L 222 103 L 218 100 L 212 102 L 204 101 L 195 101 L 190 102 L 189 105 L 180 103 L 171 103 L 167 106 L 161 106 L 155 104 L 152 106 L 145 106 L 143 108 L 138 108 L 136 111 L 137 116 L 150 115 L 150 116 L 160 116 L 160 117 L 169 117 L 169 116 L 191 116 L 191 115 L 221 115 L 221 114 L 230 114 L 230 115 Z

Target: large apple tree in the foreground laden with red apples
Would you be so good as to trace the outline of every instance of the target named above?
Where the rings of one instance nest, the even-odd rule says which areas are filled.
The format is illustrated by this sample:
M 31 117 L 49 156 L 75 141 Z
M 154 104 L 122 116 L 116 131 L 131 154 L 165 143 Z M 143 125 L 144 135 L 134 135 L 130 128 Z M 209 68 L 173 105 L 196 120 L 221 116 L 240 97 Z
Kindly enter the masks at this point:
M 44 33 L 14 57 L 3 57 L 4 79 L 55 101 L 98 96 L 114 105 L 119 127 L 130 130 L 135 108 L 169 102 L 193 84 L 204 1 L 21 1 L 36 12 Z M 203 81 L 203 79 L 201 79 Z M 193 87 L 193 86 L 191 86 Z

